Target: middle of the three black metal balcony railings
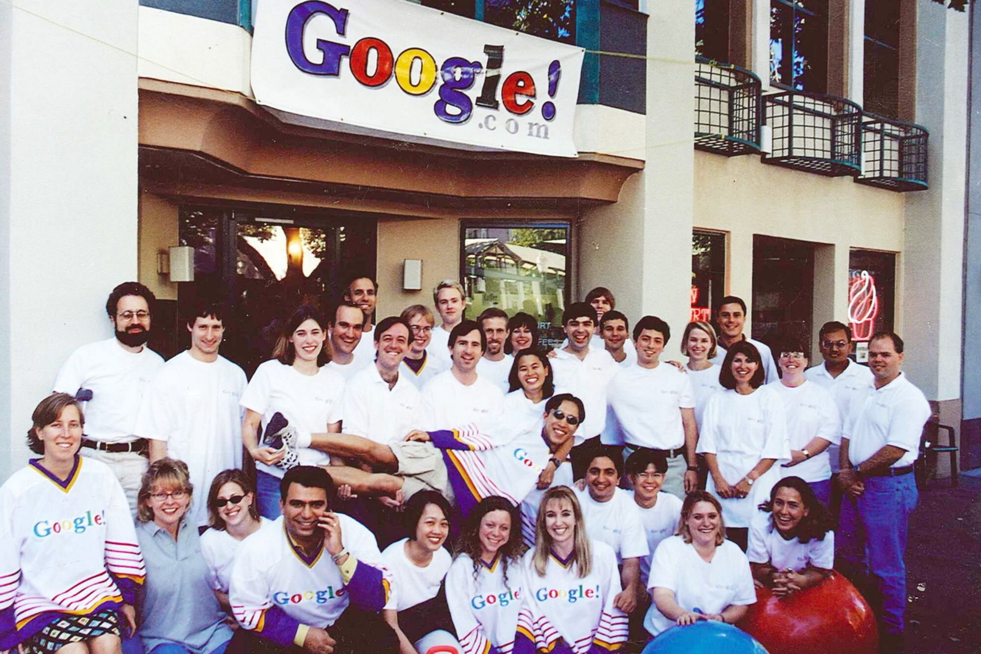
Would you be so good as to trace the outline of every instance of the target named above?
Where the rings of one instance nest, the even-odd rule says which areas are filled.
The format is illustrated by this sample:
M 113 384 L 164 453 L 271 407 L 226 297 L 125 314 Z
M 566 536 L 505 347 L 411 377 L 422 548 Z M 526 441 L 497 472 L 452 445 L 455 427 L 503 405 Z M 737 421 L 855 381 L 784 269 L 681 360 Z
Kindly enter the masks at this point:
M 772 139 L 764 163 L 825 176 L 861 172 L 861 107 L 807 91 L 765 95 L 763 102 Z

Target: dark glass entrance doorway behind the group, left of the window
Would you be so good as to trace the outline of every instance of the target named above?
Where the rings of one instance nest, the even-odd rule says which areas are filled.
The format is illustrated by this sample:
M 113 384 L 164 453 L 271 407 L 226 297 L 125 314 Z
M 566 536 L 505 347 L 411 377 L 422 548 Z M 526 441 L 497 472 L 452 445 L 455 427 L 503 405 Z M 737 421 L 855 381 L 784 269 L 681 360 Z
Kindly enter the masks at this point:
M 181 208 L 181 245 L 194 248 L 194 281 L 178 292 L 176 351 L 186 344 L 183 317 L 198 301 L 217 300 L 228 313 L 221 353 L 251 377 L 300 303 L 326 314 L 348 277 L 375 277 L 376 237 L 377 222 L 360 217 Z

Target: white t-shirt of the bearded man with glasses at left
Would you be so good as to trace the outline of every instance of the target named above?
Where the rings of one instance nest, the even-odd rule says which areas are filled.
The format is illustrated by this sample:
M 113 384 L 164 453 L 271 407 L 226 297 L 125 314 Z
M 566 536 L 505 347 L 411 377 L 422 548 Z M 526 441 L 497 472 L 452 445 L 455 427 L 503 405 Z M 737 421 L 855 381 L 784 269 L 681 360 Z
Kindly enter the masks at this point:
M 85 436 L 124 442 L 132 440 L 143 395 L 163 365 L 149 347 L 129 352 L 113 336 L 73 352 L 55 379 L 54 391 L 74 396 L 79 388 L 91 390 L 92 399 L 84 404 Z

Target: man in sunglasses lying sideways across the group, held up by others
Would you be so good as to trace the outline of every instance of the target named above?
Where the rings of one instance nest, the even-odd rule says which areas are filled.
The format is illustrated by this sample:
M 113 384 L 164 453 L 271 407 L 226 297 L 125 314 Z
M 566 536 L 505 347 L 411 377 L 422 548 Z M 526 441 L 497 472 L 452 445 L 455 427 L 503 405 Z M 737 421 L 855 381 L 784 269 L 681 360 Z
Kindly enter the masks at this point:
M 278 434 L 287 443 L 310 439 L 316 449 L 369 466 L 371 472 L 353 466 L 328 468 L 337 486 L 349 486 L 355 495 L 408 499 L 420 490 L 436 490 L 466 517 L 490 495 L 519 506 L 536 487 L 571 483 L 569 466 L 563 464 L 572 449 L 572 434 L 585 415 L 582 400 L 559 393 L 545 403 L 544 427 L 524 431 L 490 434 L 472 425 L 414 430 L 404 440 L 387 444 L 346 433 L 303 434 L 290 426 Z

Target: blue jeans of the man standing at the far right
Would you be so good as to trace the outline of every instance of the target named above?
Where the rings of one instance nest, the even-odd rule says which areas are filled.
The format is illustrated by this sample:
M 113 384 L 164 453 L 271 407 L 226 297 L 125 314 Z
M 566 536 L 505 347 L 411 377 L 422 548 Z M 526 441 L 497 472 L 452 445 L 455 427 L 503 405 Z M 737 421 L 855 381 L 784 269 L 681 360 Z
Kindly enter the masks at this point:
M 916 508 L 916 480 L 902 477 L 865 479 L 857 499 L 842 499 L 835 538 L 839 555 L 871 575 L 882 595 L 882 626 L 903 633 L 906 606 L 906 528 Z

